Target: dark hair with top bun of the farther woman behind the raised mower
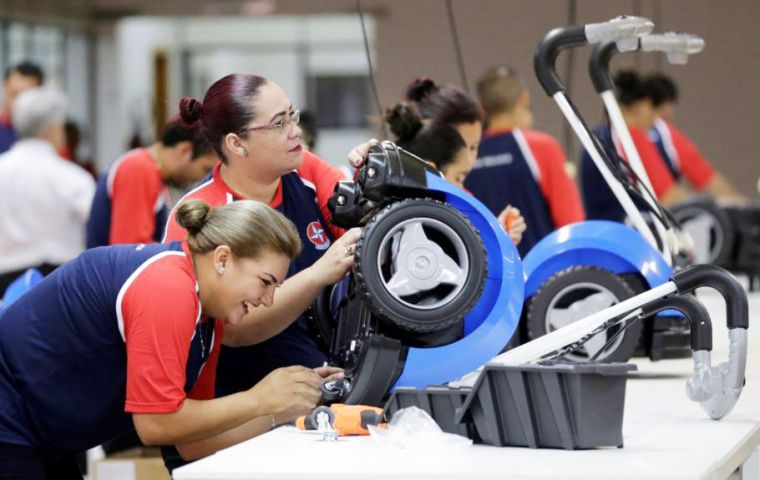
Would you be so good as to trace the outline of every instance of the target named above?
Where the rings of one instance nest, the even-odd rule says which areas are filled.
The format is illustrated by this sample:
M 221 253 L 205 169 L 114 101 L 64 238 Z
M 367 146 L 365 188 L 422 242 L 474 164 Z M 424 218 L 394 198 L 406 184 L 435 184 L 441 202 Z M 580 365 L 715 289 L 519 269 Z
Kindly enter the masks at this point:
M 406 89 L 406 99 L 417 106 L 420 116 L 447 125 L 483 121 L 478 102 L 454 85 L 438 85 L 420 77 Z

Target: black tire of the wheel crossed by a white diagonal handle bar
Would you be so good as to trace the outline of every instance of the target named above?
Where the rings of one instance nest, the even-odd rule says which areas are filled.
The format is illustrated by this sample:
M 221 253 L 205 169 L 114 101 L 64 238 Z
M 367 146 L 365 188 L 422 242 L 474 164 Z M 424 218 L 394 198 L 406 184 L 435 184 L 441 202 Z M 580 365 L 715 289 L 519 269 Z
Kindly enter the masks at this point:
M 618 302 L 636 294 L 624 279 L 608 270 L 589 266 L 576 266 L 562 270 L 544 282 L 531 298 L 525 325 L 529 341 L 546 335 L 546 314 L 555 296 L 565 288 L 580 283 L 603 286 L 617 298 Z M 627 362 L 636 351 L 643 327 L 641 321 L 634 321 L 622 334 L 623 338 L 617 348 L 602 354 L 597 361 Z M 576 355 L 578 355 L 577 352 Z

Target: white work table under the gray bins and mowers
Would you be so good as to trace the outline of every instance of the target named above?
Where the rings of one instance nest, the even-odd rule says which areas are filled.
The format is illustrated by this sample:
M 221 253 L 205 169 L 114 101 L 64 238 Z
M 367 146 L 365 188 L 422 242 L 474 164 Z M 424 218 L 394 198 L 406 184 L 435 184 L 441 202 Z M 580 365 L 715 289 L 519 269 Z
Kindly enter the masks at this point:
M 700 292 L 700 298 L 712 313 L 716 363 L 725 360 L 728 343 L 722 302 L 712 292 Z M 757 294 L 750 296 L 753 316 L 760 318 Z M 686 397 L 690 359 L 635 359 L 639 371 L 627 383 L 624 448 L 565 451 L 474 445 L 454 452 L 419 452 L 379 448 L 369 437 L 322 442 L 314 433 L 284 427 L 177 469 L 174 478 L 722 479 L 744 465 L 743 478 L 758 480 L 760 334 L 752 333 L 750 328 L 747 384 L 735 409 L 719 422 L 709 420 Z

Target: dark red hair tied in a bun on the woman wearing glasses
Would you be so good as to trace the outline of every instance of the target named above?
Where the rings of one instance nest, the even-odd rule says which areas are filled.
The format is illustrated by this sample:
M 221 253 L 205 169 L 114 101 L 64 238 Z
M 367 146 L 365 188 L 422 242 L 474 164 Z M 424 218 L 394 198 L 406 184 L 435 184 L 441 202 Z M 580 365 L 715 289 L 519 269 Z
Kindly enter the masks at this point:
M 192 125 L 198 122 L 203 134 L 219 154 L 223 162 L 224 137 L 236 133 L 247 135 L 246 127 L 256 118 L 254 100 L 259 89 L 268 80 L 258 75 L 233 73 L 220 78 L 206 91 L 203 103 L 193 97 L 183 97 L 179 102 L 182 120 Z

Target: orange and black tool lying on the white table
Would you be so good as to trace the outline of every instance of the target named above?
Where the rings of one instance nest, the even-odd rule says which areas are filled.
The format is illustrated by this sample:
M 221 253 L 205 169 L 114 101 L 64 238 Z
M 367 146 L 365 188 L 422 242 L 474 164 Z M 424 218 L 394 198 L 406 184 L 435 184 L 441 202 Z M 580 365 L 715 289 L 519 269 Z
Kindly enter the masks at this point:
M 317 418 L 320 413 L 327 414 L 328 421 L 338 436 L 369 435 L 369 425 L 384 425 L 382 408 L 334 403 L 329 407 L 319 406 L 310 414 L 298 417 L 296 427 L 301 430 L 318 430 Z

